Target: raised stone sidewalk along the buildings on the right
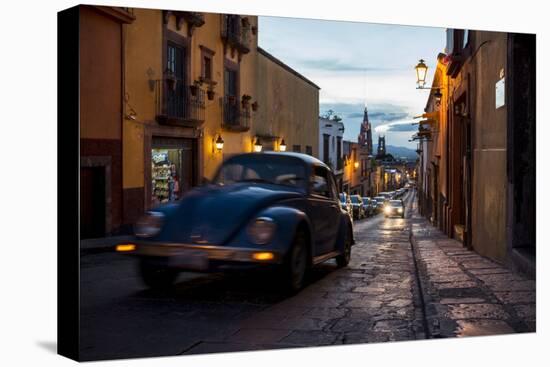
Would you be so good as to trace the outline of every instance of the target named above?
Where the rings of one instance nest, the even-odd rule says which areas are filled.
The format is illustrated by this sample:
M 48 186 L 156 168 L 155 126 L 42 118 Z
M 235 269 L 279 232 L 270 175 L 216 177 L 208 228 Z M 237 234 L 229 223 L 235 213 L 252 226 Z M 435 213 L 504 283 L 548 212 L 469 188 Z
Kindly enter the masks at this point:
M 428 337 L 536 330 L 534 280 L 467 250 L 416 212 L 411 222 Z

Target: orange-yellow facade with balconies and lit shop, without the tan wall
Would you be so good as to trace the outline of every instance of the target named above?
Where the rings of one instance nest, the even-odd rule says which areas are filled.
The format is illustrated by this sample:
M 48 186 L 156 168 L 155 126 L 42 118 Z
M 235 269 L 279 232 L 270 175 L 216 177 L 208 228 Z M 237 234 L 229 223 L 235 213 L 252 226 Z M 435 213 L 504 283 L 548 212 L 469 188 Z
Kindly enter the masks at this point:
M 252 151 L 257 17 L 131 9 L 123 29 L 123 191 L 136 219 Z M 215 142 L 223 140 L 223 149 Z

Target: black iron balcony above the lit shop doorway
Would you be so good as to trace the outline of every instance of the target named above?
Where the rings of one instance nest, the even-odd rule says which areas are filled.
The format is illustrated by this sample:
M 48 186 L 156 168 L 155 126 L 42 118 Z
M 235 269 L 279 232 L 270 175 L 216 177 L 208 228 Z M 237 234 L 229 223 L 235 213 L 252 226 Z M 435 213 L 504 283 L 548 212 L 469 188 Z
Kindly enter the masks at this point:
M 196 127 L 204 122 L 205 92 L 182 79 L 155 81 L 155 109 L 160 124 Z

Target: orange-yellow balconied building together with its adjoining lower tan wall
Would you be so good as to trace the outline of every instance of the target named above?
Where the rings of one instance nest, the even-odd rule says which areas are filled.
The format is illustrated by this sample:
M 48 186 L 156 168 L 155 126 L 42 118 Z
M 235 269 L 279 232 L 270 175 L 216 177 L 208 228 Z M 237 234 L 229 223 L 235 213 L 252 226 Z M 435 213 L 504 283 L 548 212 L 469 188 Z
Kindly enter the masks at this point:
M 319 87 L 258 48 L 257 17 L 127 11 L 122 196 L 124 211 L 134 213 L 129 223 L 212 179 L 224 159 L 255 143 L 318 155 Z

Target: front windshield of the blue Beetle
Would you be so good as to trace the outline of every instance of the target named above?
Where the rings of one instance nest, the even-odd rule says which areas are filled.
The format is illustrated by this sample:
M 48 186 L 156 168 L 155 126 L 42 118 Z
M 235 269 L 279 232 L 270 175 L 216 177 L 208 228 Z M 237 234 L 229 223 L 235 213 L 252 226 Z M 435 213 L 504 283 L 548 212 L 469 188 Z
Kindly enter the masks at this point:
M 218 185 L 231 185 L 237 182 L 270 183 L 305 190 L 305 171 L 304 164 L 295 158 L 247 155 L 226 161 L 213 182 Z

